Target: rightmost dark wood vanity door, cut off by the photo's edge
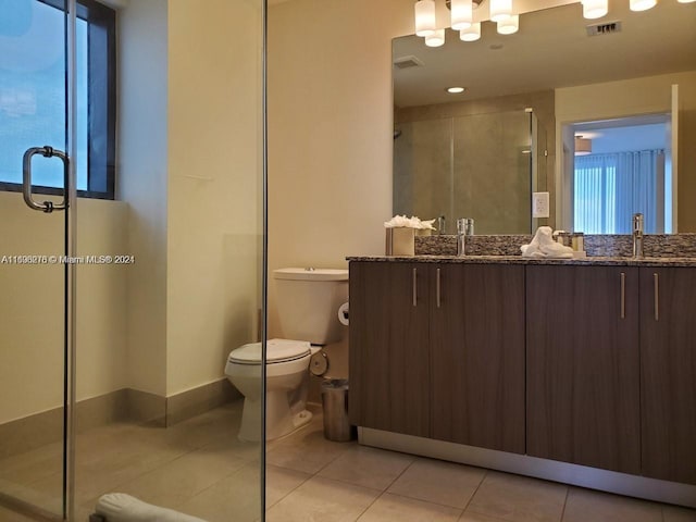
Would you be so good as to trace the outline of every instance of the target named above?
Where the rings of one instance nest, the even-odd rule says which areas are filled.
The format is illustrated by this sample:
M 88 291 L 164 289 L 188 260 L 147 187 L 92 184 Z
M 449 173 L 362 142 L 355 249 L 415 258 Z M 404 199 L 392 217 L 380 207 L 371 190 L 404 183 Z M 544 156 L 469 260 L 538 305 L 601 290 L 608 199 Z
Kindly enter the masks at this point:
M 643 474 L 696 484 L 696 270 L 641 269 L 641 377 Z

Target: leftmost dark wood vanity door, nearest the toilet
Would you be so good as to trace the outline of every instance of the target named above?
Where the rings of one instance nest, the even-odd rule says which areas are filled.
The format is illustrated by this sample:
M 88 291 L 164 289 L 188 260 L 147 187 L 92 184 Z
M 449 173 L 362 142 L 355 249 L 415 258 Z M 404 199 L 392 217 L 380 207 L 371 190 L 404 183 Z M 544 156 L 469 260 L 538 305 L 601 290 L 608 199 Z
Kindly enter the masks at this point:
M 430 436 L 427 264 L 350 263 L 352 424 Z

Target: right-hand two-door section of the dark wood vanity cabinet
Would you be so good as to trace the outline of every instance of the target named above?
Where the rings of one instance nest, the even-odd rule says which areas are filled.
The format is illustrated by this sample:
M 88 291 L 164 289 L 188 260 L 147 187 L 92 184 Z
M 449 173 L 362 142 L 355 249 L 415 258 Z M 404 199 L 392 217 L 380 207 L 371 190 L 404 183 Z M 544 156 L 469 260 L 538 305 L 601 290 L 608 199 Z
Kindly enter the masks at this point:
M 696 484 L 696 270 L 527 266 L 527 455 Z

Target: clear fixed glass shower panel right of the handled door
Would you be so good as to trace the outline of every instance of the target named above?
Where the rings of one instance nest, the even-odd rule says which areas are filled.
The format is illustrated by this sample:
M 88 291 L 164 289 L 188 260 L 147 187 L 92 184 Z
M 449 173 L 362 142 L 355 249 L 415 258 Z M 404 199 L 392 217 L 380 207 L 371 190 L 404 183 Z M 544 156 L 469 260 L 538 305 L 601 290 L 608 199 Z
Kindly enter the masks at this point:
M 122 3 L 116 199 L 78 202 L 112 262 L 77 268 L 76 520 L 121 493 L 252 522 L 263 415 L 239 440 L 224 370 L 262 332 L 263 2 Z

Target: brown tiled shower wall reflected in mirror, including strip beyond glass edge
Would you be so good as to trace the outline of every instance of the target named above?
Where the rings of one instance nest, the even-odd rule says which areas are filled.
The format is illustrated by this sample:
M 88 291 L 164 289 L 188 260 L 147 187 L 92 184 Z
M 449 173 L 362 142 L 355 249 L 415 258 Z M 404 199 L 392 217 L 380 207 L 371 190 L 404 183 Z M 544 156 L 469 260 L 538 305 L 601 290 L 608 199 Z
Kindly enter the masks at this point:
M 396 108 L 394 120 L 394 213 L 445 215 L 448 234 L 459 217 L 476 234 L 531 233 L 531 191 L 554 187 L 552 91 Z

